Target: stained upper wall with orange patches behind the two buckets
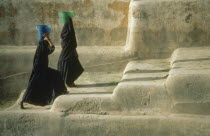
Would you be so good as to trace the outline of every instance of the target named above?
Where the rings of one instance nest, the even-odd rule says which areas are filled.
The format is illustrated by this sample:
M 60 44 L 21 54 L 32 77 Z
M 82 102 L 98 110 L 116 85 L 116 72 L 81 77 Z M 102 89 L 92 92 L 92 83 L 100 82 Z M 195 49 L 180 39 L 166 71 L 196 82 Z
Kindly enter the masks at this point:
M 60 44 L 58 12 L 74 11 L 79 46 L 125 45 L 130 0 L 1 0 L 0 45 L 35 45 L 35 26 L 52 25 Z

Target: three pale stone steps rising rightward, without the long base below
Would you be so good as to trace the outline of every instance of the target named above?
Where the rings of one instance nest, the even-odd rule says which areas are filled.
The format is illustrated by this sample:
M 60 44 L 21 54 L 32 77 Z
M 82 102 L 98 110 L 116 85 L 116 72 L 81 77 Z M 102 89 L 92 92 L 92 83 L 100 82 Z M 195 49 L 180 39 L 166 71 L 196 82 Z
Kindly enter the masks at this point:
M 131 61 L 113 94 L 60 96 L 51 111 L 209 114 L 209 52 L 183 48 L 171 59 Z

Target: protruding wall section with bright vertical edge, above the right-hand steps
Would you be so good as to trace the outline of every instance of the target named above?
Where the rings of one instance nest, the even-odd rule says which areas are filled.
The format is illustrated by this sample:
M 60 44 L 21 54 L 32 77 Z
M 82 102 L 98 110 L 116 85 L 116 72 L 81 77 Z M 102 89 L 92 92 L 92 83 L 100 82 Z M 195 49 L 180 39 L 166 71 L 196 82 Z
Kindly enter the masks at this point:
M 127 50 L 169 57 L 179 47 L 209 46 L 210 0 L 133 0 Z

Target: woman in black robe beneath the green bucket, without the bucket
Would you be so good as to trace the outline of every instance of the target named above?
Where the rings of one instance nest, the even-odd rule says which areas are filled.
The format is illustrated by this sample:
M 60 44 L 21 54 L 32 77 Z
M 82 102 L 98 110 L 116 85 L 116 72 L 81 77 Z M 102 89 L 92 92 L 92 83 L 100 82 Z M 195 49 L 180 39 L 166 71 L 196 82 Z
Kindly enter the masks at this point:
M 84 69 L 78 59 L 77 41 L 71 17 L 63 26 L 61 39 L 62 51 L 58 61 L 58 71 L 68 87 L 75 87 L 74 81 Z

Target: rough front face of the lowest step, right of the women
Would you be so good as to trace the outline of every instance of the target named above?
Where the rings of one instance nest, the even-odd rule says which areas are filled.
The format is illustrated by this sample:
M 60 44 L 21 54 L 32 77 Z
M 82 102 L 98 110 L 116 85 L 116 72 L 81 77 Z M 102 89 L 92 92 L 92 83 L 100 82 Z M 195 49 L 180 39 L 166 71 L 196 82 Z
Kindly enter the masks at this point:
M 69 94 L 59 96 L 51 111 L 67 113 L 102 113 L 113 107 L 111 94 Z

